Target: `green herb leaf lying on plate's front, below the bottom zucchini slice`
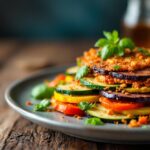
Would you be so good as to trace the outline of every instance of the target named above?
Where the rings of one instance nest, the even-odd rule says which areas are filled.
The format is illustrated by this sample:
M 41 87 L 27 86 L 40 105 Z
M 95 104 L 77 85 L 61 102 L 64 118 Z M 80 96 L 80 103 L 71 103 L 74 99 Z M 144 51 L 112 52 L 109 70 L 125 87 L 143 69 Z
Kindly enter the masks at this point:
M 90 125 L 104 125 L 104 122 L 101 121 L 100 118 L 88 118 L 85 120 L 85 124 L 90 124 Z

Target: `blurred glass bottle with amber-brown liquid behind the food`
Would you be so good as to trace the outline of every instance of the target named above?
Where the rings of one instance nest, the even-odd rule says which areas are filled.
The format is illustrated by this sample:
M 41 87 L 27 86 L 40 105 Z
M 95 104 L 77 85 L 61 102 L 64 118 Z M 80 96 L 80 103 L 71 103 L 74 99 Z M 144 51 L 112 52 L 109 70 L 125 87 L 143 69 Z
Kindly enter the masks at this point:
M 131 37 L 137 46 L 150 48 L 150 0 L 128 0 L 123 35 Z

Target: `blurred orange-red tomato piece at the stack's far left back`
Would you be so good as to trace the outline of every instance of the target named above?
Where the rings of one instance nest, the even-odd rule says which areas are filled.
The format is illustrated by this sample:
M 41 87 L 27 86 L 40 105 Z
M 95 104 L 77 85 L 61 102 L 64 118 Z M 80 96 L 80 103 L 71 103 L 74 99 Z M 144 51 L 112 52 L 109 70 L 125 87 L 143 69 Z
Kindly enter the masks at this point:
M 48 83 L 49 87 L 55 87 L 58 85 L 61 81 L 65 81 L 66 76 L 64 74 L 57 75 L 54 80 Z

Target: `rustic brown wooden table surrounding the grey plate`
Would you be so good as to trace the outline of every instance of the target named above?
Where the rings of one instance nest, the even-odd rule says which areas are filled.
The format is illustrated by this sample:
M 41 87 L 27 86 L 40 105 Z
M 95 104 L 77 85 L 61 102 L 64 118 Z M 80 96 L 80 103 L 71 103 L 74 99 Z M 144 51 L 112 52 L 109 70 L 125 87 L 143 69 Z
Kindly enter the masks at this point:
M 75 62 L 92 41 L 16 42 L 0 41 L 0 149 L 30 150 L 133 150 L 149 145 L 96 143 L 74 138 L 34 124 L 11 110 L 4 101 L 5 88 L 14 80 L 31 75 L 40 68 Z

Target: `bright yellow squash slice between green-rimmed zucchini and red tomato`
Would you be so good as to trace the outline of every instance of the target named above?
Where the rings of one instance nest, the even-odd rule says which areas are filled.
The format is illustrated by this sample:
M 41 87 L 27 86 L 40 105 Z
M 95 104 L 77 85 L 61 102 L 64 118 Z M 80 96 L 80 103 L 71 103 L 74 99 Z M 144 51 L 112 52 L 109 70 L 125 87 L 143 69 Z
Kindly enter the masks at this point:
M 99 95 L 84 95 L 84 96 L 72 96 L 72 95 L 65 95 L 60 94 L 58 92 L 54 92 L 54 99 L 60 102 L 66 102 L 66 103 L 80 103 L 80 102 L 98 102 L 99 101 Z

